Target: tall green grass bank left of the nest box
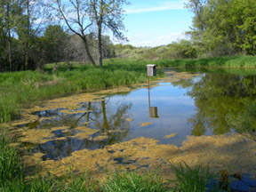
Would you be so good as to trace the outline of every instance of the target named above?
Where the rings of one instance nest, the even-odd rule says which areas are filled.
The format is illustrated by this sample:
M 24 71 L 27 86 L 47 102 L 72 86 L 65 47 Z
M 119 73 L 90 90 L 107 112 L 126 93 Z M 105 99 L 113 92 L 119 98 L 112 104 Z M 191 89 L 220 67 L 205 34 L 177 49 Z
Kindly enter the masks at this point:
M 0 74 L 0 117 L 10 121 L 21 108 L 31 102 L 57 97 L 66 93 L 93 91 L 147 82 L 144 65 L 74 66 L 67 70 L 60 66 L 52 72 L 52 65 L 44 72 L 20 71 Z M 69 68 L 70 69 L 70 68 Z M 158 76 L 163 76 L 159 72 Z

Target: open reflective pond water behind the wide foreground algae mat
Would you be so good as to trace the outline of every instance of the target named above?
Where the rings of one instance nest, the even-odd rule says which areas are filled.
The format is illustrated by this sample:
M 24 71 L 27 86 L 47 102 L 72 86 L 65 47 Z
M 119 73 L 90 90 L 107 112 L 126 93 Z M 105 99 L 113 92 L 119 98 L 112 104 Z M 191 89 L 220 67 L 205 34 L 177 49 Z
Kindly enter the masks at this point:
M 256 76 L 196 72 L 183 73 L 183 77 L 173 80 L 179 73 L 167 71 L 169 77 L 149 89 L 139 86 L 129 92 L 98 93 L 96 100 L 77 101 L 75 108 L 65 104 L 54 109 L 41 106 L 44 109 L 33 111 L 39 120 L 20 126 L 28 128 L 30 135 L 37 134 L 31 130 L 57 129 L 50 136 L 42 136 L 50 137 L 45 142 L 26 140 L 24 145 L 30 144 L 34 152 L 44 153 L 44 160 L 139 137 L 180 146 L 188 135 L 235 132 L 227 122 L 228 114 L 236 116 L 255 99 Z M 68 106 L 68 100 L 65 102 Z M 91 129 L 86 131 L 85 126 Z M 87 132 L 84 137 L 83 131 Z

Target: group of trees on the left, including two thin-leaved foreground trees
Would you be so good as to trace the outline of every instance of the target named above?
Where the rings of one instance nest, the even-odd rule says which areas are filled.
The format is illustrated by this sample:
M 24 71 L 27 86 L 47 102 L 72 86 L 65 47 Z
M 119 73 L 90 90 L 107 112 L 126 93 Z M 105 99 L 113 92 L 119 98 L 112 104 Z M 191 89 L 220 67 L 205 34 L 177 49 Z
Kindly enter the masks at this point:
M 126 0 L 0 0 L 0 71 L 70 60 L 102 67 L 104 58 L 115 57 L 105 32 L 125 39 L 124 4 Z

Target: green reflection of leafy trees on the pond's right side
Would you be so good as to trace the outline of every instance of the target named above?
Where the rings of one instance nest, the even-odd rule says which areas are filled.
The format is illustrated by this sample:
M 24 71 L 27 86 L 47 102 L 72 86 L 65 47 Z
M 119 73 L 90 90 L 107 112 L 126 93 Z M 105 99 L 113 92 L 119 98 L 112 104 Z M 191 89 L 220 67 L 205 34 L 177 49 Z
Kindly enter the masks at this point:
M 206 73 L 199 81 L 185 79 L 173 85 L 188 88 L 188 96 L 195 100 L 196 114 L 188 118 L 192 134 L 201 136 L 231 132 L 227 116 L 244 113 L 246 103 L 256 96 L 256 76 L 235 76 Z

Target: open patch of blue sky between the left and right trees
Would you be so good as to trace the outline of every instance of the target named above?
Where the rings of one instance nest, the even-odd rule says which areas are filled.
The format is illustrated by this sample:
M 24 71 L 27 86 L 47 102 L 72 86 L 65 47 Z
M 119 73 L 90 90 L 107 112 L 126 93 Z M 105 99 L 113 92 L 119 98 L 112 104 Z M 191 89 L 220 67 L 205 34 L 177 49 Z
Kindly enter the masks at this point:
M 186 38 L 193 13 L 184 8 L 186 0 L 130 0 L 126 6 L 124 35 L 134 46 L 170 44 Z M 116 42 L 117 43 L 117 42 Z

